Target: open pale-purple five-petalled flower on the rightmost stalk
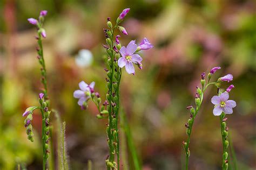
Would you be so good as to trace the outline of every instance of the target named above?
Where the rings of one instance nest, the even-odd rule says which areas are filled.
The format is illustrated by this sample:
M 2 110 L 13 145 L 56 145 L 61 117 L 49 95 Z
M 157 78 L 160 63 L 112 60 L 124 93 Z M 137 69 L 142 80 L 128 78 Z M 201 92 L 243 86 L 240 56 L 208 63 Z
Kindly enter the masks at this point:
M 220 116 L 222 112 L 225 114 L 232 114 L 233 110 L 237 103 L 233 100 L 228 100 L 228 93 L 222 93 L 219 96 L 213 96 L 212 97 L 212 104 L 215 104 L 215 107 L 213 109 L 213 115 L 214 116 Z

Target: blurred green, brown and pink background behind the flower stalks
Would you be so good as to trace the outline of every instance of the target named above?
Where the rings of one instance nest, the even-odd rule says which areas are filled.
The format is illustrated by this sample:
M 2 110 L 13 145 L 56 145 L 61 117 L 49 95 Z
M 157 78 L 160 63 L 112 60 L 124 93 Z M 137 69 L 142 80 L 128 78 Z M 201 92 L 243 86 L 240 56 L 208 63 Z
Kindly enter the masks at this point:
M 42 88 L 36 30 L 27 21 L 41 10 L 48 10 L 43 45 L 49 96 L 52 108 L 66 121 L 70 167 L 86 169 L 91 160 L 93 169 L 105 169 L 106 121 L 96 118 L 92 103 L 80 110 L 73 91 L 82 80 L 95 81 L 105 98 L 103 28 L 107 17 L 114 22 L 124 8 L 131 10 L 122 23 L 129 33 L 120 38 L 122 44 L 147 37 L 154 45 L 141 54 L 143 70 L 136 69 L 135 76 L 124 72 L 121 83 L 123 111 L 143 169 L 184 167 L 182 141 L 190 117 L 186 107 L 194 103 L 200 74 L 215 66 L 222 69 L 213 80 L 234 76 L 230 98 L 237 107 L 227 116 L 227 125 L 237 169 L 255 169 L 256 6 L 255 1 L 239 0 L 0 1 L 0 169 L 42 165 L 41 115 L 33 116 L 33 143 L 26 139 L 22 117 L 26 108 L 38 104 Z M 213 116 L 210 102 L 215 94 L 214 88 L 207 90 L 196 117 L 190 169 L 221 168 L 219 117 Z M 52 114 L 53 127 L 55 119 Z M 133 169 L 131 152 L 125 155 Z M 230 169 L 235 169 L 233 161 Z

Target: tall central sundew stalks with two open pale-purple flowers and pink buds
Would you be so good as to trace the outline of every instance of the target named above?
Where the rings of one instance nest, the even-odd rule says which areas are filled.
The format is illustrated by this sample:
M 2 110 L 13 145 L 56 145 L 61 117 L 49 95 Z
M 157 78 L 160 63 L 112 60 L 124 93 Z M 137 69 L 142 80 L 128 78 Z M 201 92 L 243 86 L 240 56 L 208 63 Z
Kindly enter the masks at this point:
M 97 117 L 99 119 L 107 118 L 107 144 L 109 146 L 109 155 L 107 156 L 106 166 L 107 169 L 120 169 L 120 141 L 119 141 L 119 110 L 120 110 L 120 82 L 122 77 L 122 68 L 128 74 L 135 75 L 134 65 L 142 69 L 142 57 L 137 54 L 141 50 L 147 50 L 153 47 L 149 40 L 144 38 L 139 45 L 135 40 L 131 40 L 125 47 L 121 45 L 119 40 L 120 35 L 114 36 L 115 31 L 119 30 L 125 36 L 128 35 L 123 26 L 119 24 L 123 21 L 124 17 L 130 11 L 129 8 L 124 9 L 116 20 L 113 26 L 111 19 L 107 18 L 107 29 L 104 29 L 106 37 L 106 54 L 108 56 L 106 68 L 104 68 L 107 78 L 107 94 L 106 101 L 101 104 L 102 100 L 99 93 L 95 93 L 95 82 L 86 84 L 84 81 L 79 83 L 79 90 L 73 94 L 75 98 L 79 98 L 78 105 L 82 109 L 86 109 L 88 101 L 92 100 L 99 111 Z

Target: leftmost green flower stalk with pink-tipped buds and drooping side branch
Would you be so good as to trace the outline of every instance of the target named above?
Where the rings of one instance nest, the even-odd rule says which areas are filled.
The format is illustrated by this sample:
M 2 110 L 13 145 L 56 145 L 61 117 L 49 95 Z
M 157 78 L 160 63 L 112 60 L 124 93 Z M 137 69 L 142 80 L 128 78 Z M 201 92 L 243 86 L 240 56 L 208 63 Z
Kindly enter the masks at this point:
M 49 116 L 51 111 L 49 111 L 49 97 L 48 97 L 48 88 L 47 88 L 47 79 L 46 79 L 46 68 L 45 68 L 45 61 L 44 61 L 44 54 L 43 54 L 43 44 L 42 44 L 42 39 L 46 38 L 46 32 L 43 29 L 43 23 L 44 23 L 44 17 L 47 15 L 47 11 L 43 10 L 40 12 L 40 15 L 38 19 L 35 18 L 29 18 L 28 21 L 32 25 L 37 26 L 37 44 L 38 47 L 36 48 L 37 50 L 37 59 L 41 65 L 41 75 L 42 79 L 41 82 L 43 84 L 43 93 L 39 94 L 39 104 L 40 107 L 30 107 L 28 108 L 23 116 L 28 115 L 28 117 L 25 120 L 25 126 L 27 126 L 27 134 L 28 134 L 28 139 L 33 141 L 33 133 L 32 133 L 32 114 L 33 110 L 39 109 L 42 114 L 42 148 L 43 148 L 43 170 L 46 169 L 46 163 L 49 158 Z M 32 108 L 32 109 L 31 109 Z

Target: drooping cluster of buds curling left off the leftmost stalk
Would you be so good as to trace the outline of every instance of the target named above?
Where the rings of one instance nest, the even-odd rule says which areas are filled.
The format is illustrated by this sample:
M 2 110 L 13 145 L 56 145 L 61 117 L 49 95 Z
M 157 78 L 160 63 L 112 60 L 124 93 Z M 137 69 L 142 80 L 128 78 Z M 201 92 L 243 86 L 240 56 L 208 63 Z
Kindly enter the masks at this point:
M 29 107 L 25 110 L 24 114 L 22 116 L 26 116 L 26 119 L 24 121 L 24 126 L 26 128 L 26 134 L 28 134 L 28 139 L 30 141 L 34 141 L 33 139 L 33 127 L 32 127 L 32 120 L 33 120 L 33 111 L 39 109 L 38 107 Z

